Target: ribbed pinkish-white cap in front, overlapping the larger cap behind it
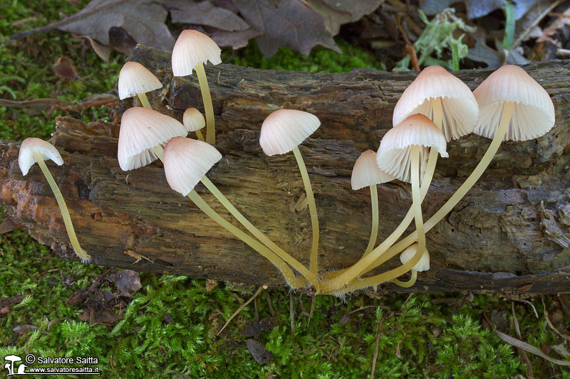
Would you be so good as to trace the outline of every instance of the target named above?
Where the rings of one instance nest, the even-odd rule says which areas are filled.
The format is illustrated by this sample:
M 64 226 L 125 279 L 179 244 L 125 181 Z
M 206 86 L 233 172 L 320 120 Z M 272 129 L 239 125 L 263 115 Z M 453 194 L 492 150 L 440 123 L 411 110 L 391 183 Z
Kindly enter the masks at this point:
M 376 163 L 380 170 L 395 176 L 400 181 L 411 180 L 412 145 L 420 146 L 420 175 L 423 178 L 429 147 L 447 158 L 445 136 L 435 124 L 423 114 L 413 114 L 400 124 L 388 130 L 380 142 Z

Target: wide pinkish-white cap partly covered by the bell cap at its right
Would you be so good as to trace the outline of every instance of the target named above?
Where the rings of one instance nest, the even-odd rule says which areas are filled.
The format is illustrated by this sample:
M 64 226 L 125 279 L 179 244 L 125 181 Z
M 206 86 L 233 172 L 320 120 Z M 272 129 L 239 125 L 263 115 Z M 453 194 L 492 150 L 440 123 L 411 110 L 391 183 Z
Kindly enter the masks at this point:
M 133 107 L 120 119 L 119 166 L 123 171 L 138 169 L 157 159 L 152 148 L 188 132 L 176 119 L 155 110 Z

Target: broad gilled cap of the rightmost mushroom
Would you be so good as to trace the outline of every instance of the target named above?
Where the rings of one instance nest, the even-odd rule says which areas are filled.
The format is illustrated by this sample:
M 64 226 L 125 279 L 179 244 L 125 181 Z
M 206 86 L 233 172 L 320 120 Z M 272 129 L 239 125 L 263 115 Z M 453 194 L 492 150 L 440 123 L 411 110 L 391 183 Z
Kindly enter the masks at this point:
M 554 104 L 539 83 L 517 65 L 504 65 L 475 88 L 479 121 L 475 133 L 493 138 L 499 128 L 503 102 L 514 102 L 503 141 L 527 141 L 554 127 Z

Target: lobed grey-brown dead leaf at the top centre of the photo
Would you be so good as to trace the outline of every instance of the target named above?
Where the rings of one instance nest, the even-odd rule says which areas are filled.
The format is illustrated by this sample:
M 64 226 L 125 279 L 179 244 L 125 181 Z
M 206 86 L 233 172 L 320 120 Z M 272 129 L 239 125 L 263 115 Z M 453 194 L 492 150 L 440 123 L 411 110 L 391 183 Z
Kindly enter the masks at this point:
M 275 55 L 279 46 L 300 51 L 304 55 L 308 55 L 316 45 L 342 53 L 326 30 L 323 16 L 300 0 L 271 3 L 235 0 L 234 3 L 245 21 L 263 33 L 256 39 L 259 50 L 268 58 Z

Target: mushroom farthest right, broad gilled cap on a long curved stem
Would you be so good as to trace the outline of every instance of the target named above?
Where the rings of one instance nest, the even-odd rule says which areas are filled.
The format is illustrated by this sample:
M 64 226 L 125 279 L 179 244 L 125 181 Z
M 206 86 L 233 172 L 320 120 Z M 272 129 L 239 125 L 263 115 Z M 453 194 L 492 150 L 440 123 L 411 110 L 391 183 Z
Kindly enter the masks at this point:
M 480 121 L 477 122 L 475 132 L 493 137 L 492 142 L 475 170 L 465 179 L 460 188 L 424 223 L 426 232 L 437 225 L 480 178 L 499 149 L 502 140 L 526 141 L 540 137 L 554 127 L 554 105 L 548 92 L 518 66 L 502 66 L 489 75 L 473 93 L 480 110 Z M 413 232 L 400 240 L 386 250 L 382 257 L 374 262 L 373 267 L 389 260 L 415 242 L 417 238 L 418 233 Z M 393 273 L 385 272 L 360 279 L 358 282 L 348 284 L 345 289 L 355 290 L 374 286 L 385 281 L 384 278 L 391 274 Z

